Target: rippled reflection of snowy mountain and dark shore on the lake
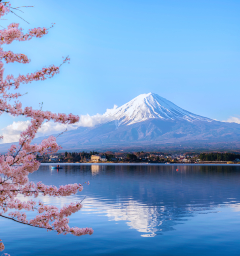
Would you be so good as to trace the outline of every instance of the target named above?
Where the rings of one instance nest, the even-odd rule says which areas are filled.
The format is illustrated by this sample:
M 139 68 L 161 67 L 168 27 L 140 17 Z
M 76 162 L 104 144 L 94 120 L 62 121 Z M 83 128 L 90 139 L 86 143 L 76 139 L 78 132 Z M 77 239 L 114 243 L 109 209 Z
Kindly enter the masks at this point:
M 44 197 L 45 203 L 62 206 L 87 195 L 81 214 L 124 221 L 143 237 L 174 230 L 176 225 L 199 214 L 218 214 L 223 207 L 240 211 L 238 166 L 68 164 L 63 167 L 46 179 L 49 167 L 42 165 L 31 179 L 45 179 L 45 183 L 55 185 L 90 180 L 91 185 L 84 186 L 84 193 L 75 196 Z

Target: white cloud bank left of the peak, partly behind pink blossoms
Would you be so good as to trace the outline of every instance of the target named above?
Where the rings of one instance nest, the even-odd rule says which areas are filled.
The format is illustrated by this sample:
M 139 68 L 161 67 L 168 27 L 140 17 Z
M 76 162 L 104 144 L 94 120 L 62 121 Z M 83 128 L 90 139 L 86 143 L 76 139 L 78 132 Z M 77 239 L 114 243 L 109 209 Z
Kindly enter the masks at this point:
M 106 113 L 103 115 L 96 114 L 94 116 L 81 115 L 79 122 L 76 124 L 60 124 L 54 122 L 45 122 L 42 127 L 38 130 L 36 138 L 41 136 L 47 136 L 55 133 L 60 133 L 68 130 L 75 130 L 80 126 L 83 127 L 92 127 L 97 124 L 106 123 L 111 121 L 111 113 L 117 108 L 116 105 L 112 109 L 107 109 Z M 13 122 L 12 124 L 6 126 L 5 128 L 0 130 L 0 135 L 3 135 L 3 140 L 0 140 L 0 144 L 2 143 L 10 143 L 16 142 L 20 139 L 20 133 L 27 129 L 28 125 L 30 124 L 30 120 L 27 121 L 18 121 Z

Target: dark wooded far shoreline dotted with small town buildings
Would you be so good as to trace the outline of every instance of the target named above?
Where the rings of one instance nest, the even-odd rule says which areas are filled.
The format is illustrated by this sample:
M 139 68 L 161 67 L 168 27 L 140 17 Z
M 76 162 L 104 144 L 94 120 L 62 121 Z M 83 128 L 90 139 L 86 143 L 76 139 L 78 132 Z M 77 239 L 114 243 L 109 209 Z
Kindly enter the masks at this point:
M 41 163 L 153 163 L 153 164 L 240 164 L 238 153 L 195 153 L 171 154 L 163 152 L 62 152 L 36 156 Z

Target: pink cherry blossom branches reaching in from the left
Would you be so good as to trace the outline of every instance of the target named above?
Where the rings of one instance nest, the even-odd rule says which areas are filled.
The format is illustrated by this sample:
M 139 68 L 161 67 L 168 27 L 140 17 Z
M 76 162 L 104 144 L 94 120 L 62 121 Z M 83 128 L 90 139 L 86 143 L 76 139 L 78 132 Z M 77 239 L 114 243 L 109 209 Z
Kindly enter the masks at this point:
M 11 5 L 9 2 L 0 2 L 0 17 L 9 13 Z M 7 75 L 4 78 L 4 62 L 29 63 L 30 59 L 24 54 L 13 53 L 12 51 L 4 51 L 4 44 L 11 44 L 13 41 L 26 41 L 33 37 L 42 37 L 48 33 L 46 28 L 33 28 L 24 34 L 19 28 L 18 23 L 12 23 L 7 28 L 0 30 L 0 115 L 9 113 L 12 116 L 25 116 L 31 119 L 31 123 L 27 130 L 20 135 L 19 145 L 12 145 L 8 153 L 0 155 L 0 217 L 15 220 L 17 222 L 46 228 L 47 230 L 55 230 L 58 234 L 71 233 L 75 236 L 82 236 L 93 233 L 92 228 L 70 228 L 68 225 L 72 213 L 82 208 L 81 203 L 71 203 L 58 209 L 53 205 L 44 205 L 42 202 L 36 203 L 34 200 L 25 202 L 20 201 L 16 197 L 23 195 L 24 197 L 37 197 L 39 194 L 43 196 L 69 196 L 83 190 L 83 184 L 68 184 L 60 186 L 47 186 L 42 182 L 29 182 L 28 174 L 38 170 L 40 163 L 36 160 L 36 154 L 54 153 L 60 149 L 54 136 L 44 139 L 40 144 L 32 144 L 38 129 L 44 121 L 54 121 L 62 124 L 73 124 L 79 121 L 79 117 L 73 114 L 54 114 L 50 111 L 35 110 L 31 107 L 22 108 L 22 104 L 17 99 L 20 93 L 13 93 L 12 89 L 18 89 L 20 84 L 31 83 L 32 81 L 45 80 L 59 73 L 62 64 L 68 62 L 67 57 L 63 59 L 60 66 L 50 66 L 42 68 L 27 75 Z M 16 99 L 11 104 L 10 100 Z M 3 136 L 0 136 L 2 139 Z M 89 185 L 89 182 L 87 183 Z M 15 211 L 9 212 L 13 209 Z M 25 211 L 35 211 L 36 217 L 28 220 Z M 4 250 L 4 244 L 0 240 L 0 251 Z M 5 255 L 7 255 L 5 253 Z

